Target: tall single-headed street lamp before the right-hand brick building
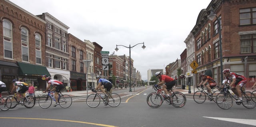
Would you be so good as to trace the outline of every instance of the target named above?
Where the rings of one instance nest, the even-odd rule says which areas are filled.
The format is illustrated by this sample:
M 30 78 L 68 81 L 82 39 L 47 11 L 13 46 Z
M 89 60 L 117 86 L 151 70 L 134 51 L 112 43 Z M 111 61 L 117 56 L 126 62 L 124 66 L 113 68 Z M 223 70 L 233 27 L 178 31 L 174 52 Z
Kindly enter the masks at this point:
M 218 32 L 219 32 L 219 40 L 220 40 L 220 78 L 223 80 L 223 65 L 222 65 L 222 40 L 221 40 L 221 28 L 220 28 L 220 19 L 216 16 L 213 9 L 211 10 L 211 13 L 209 14 L 208 18 L 212 21 L 216 17 L 218 21 Z

